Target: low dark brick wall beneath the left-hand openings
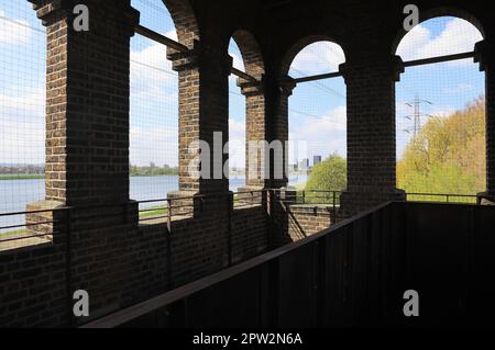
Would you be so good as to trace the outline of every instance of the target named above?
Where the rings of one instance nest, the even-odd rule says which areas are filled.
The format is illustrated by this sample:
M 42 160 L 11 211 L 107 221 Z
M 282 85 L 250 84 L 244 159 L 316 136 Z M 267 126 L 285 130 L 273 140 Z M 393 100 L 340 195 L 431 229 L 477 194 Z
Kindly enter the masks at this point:
M 229 222 L 212 201 L 219 199 L 194 217 L 174 218 L 170 228 L 164 219 L 125 224 L 132 206 L 114 207 L 112 226 L 97 212 L 78 211 L 72 213 L 70 233 L 61 223 L 53 242 L 0 252 L 0 325 L 76 324 L 68 314 L 76 290 L 89 293 L 97 318 L 227 268 L 229 245 L 232 263 L 266 250 L 265 206 L 235 208 L 229 236 Z

